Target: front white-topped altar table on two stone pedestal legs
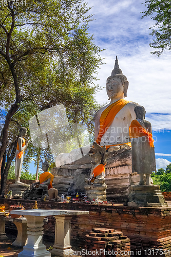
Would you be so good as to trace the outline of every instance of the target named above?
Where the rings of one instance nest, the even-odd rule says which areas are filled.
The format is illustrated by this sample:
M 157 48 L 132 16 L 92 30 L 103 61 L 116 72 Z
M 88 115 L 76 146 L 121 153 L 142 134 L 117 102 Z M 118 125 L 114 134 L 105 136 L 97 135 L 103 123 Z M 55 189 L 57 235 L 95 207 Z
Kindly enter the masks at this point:
M 18 257 L 50 257 L 51 253 L 46 250 L 42 243 L 43 219 L 46 216 L 54 216 L 55 242 L 51 252 L 58 256 L 70 256 L 72 249 L 70 245 L 70 220 L 72 215 L 89 214 L 89 211 L 75 210 L 18 210 L 11 214 L 21 214 L 27 218 L 28 243 Z

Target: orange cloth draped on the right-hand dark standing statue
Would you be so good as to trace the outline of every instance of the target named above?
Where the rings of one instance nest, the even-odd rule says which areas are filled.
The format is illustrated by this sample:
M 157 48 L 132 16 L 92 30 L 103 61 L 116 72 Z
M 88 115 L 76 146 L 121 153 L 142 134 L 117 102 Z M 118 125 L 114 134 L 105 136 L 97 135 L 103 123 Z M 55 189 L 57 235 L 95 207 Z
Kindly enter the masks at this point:
M 154 147 L 154 139 L 152 137 L 152 134 L 147 132 L 145 128 L 141 126 L 141 124 L 138 122 L 138 120 L 132 120 L 130 126 L 129 126 L 129 136 L 130 138 L 136 138 L 136 137 L 148 137 L 148 142 L 151 147 Z

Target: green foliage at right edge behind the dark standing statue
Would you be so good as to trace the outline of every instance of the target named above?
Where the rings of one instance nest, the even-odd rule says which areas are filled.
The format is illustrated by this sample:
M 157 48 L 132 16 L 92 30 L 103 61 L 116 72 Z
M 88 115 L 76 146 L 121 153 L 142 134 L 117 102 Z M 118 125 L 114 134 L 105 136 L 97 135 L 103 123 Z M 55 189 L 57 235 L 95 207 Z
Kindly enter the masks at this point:
M 159 185 L 162 192 L 171 192 L 171 163 L 166 170 L 159 169 L 156 174 L 151 174 L 154 185 Z

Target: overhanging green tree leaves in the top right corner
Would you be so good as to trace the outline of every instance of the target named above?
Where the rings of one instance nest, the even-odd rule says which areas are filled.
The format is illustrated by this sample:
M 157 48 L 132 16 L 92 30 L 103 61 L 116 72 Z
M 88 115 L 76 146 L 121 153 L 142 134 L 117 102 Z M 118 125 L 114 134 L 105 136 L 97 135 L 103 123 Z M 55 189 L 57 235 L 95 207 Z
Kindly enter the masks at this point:
M 171 49 L 171 2 L 168 0 L 146 0 L 145 6 L 147 10 L 142 18 L 145 16 L 150 16 L 150 18 L 155 22 L 150 35 L 155 36 L 153 42 L 149 45 L 157 50 L 151 52 L 152 54 L 160 54 L 165 50 Z

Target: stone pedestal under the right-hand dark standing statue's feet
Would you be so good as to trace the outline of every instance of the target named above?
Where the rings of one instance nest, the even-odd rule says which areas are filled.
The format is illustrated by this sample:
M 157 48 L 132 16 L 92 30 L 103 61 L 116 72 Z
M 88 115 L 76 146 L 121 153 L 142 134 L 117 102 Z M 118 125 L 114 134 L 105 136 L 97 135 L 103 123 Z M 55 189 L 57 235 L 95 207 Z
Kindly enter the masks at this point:
M 159 185 L 131 186 L 128 206 L 167 207 Z

